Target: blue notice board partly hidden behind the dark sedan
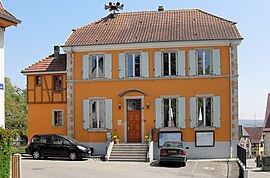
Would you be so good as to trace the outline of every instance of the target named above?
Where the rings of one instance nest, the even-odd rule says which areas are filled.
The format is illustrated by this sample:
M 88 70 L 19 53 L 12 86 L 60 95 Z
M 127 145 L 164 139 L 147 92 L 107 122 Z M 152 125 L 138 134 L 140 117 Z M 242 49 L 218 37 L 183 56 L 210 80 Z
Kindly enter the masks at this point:
M 182 141 L 181 132 L 159 132 L 158 146 L 161 147 L 166 141 Z

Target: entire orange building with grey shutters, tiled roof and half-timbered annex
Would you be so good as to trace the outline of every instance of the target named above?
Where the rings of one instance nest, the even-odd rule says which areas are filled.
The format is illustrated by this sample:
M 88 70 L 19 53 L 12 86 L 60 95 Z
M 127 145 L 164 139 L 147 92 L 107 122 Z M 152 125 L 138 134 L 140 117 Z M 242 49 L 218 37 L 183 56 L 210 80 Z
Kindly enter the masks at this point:
M 75 29 L 66 68 L 49 57 L 22 71 L 29 137 L 67 134 L 105 155 L 111 134 L 144 143 L 151 133 L 155 158 L 167 139 L 191 158 L 235 157 L 241 41 L 235 22 L 197 9 L 110 14 Z

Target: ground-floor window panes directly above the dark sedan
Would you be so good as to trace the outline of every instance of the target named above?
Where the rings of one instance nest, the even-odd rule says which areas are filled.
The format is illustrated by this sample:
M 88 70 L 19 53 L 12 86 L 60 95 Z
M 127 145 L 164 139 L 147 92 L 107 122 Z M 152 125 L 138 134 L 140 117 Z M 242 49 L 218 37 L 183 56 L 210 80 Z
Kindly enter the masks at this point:
M 176 98 L 163 99 L 164 127 L 176 127 Z

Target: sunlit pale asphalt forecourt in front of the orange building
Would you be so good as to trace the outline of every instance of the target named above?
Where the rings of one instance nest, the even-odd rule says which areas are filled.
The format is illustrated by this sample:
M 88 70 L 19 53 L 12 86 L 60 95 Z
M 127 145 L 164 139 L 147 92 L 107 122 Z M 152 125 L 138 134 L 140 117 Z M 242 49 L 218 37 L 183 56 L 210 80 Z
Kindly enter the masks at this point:
M 22 158 L 23 178 L 174 178 L 174 177 L 238 177 L 235 161 L 189 160 L 186 167 L 158 162 L 102 162 L 99 158 L 82 161 L 66 159 L 33 160 Z

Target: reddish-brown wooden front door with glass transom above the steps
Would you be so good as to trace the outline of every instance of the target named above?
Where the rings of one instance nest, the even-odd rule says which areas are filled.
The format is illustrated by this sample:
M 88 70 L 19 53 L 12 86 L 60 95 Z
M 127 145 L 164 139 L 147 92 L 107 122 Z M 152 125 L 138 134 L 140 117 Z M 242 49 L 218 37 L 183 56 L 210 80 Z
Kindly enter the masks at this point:
M 141 143 L 141 100 L 127 100 L 127 141 Z

